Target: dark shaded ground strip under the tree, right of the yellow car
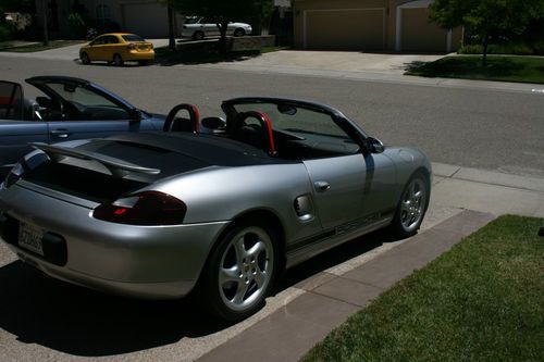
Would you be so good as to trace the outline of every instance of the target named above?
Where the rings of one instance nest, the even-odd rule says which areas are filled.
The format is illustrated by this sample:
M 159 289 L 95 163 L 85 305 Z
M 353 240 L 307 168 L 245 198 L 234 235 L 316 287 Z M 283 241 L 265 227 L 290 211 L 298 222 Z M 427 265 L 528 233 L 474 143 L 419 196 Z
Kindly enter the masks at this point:
M 169 50 L 168 47 L 156 48 L 154 61 L 161 65 L 238 62 L 268 52 L 288 49 L 288 47 L 265 47 L 252 50 L 230 51 L 226 54 L 220 54 L 214 50 L 213 46 L 214 43 L 212 42 L 177 46 L 175 51 Z

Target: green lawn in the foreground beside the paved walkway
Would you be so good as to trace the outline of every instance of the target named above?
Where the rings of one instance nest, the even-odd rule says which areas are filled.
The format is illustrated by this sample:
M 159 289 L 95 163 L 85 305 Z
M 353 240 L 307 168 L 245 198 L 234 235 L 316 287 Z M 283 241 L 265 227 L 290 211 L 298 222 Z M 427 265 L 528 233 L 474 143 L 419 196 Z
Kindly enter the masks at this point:
M 544 361 L 542 225 L 495 220 L 351 316 L 302 361 Z

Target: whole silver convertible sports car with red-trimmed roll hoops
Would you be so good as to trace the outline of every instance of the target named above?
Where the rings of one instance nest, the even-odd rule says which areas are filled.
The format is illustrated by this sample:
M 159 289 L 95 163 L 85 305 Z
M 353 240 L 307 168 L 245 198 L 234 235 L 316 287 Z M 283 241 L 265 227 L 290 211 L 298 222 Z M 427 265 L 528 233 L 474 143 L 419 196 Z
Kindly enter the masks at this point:
M 318 103 L 222 109 L 199 120 L 180 104 L 162 133 L 33 143 L 0 187 L 3 240 L 55 278 L 140 298 L 194 290 L 240 320 L 286 267 L 381 227 L 417 233 L 431 187 L 421 151 Z

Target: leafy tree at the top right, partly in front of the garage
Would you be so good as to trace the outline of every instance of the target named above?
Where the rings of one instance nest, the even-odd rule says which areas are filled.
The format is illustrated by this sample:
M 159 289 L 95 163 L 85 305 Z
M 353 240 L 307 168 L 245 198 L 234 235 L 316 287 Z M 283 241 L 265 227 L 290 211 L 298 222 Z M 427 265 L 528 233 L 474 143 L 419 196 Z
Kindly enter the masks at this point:
M 490 40 L 505 32 L 521 34 L 532 20 L 543 17 L 544 0 L 435 0 L 429 10 L 441 27 L 470 27 L 482 43 L 486 66 Z

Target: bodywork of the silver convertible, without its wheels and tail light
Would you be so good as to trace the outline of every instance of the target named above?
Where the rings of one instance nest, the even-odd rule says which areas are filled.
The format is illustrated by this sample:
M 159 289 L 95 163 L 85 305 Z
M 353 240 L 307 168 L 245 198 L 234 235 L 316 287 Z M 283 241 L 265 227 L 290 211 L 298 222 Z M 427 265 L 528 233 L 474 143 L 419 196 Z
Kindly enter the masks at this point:
M 226 127 L 213 134 L 131 133 L 34 143 L 36 150 L 20 163 L 23 172 L 0 188 L 4 239 L 23 260 L 64 280 L 136 297 L 181 297 L 238 223 L 272 225 L 280 258 L 290 267 L 387 226 L 410 177 L 431 175 L 421 151 L 372 151 L 360 127 L 332 108 L 279 98 L 235 99 L 222 108 Z M 248 117 L 270 121 L 247 112 L 254 109 L 265 109 L 275 122 L 277 151 L 238 138 Z M 326 134 L 329 126 L 339 135 Z M 33 164 L 37 157 L 42 161 Z M 95 214 L 99 205 L 112 204 L 123 215 L 135 202 L 126 200 L 146 192 L 183 202 L 183 220 L 138 226 Z M 66 264 L 52 265 L 48 255 L 17 246 L 15 232 L 23 224 L 61 236 Z

